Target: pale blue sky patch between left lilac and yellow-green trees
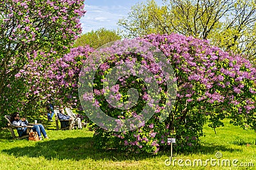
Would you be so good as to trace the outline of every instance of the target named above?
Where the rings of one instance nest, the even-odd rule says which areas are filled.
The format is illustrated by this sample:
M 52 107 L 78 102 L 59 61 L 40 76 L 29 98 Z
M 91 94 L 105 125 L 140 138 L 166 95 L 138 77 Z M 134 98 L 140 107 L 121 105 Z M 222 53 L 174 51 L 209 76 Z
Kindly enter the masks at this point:
M 161 4 L 161 0 L 155 0 Z M 126 17 L 131 6 L 136 3 L 147 2 L 147 0 L 86 0 L 85 10 L 87 11 L 81 24 L 83 33 L 97 30 L 101 27 L 106 29 L 117 29 L 117 22 L 120 18 Z

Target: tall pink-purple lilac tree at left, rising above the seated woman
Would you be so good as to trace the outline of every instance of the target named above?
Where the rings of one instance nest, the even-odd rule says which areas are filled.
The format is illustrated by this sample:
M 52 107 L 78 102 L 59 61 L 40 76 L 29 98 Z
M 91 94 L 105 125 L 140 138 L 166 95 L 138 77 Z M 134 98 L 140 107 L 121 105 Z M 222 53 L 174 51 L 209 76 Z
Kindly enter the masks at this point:
M 81 0 L 1 2 L 1 120 L 13 111 L 38 113 L 43 102 L 40 90 L 47 88 L 42 86 L 47 81 L 44 71 L 81 34 L 83 8 Z

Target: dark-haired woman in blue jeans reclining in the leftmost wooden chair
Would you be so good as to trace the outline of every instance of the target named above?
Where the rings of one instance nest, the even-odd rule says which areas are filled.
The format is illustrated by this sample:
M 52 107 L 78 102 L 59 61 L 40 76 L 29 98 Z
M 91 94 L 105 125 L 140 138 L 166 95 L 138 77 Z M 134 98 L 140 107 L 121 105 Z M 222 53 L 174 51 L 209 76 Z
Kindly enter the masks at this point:
M 19 113 L 15 112 L 15 113 L 12 114 L 12 117 L 11 117 L 10 121 L 15 126 L 25 126 L 25 127 L 19 127 L 17 129 L 19 137 L 24 136 L 24 135 L 27 134 L 28 127 L 26 127 L 26 126 L 28 125 L 28 120 L 26 120 L 26 118 L 20 119 Z M 43 125 L 41 125 L 41 124 L 33 125 L 32 130 L 34 132 L 38 133 L 38 136 L 39 136 L 40 140 L 42 140 L 42 134 L 44 135 L 45 139 L 49 139 L 46 132 L 45 132 L 45 129 L 44 129 Z M 42 132 L 42 134 L 41 134 L 41 132 Z

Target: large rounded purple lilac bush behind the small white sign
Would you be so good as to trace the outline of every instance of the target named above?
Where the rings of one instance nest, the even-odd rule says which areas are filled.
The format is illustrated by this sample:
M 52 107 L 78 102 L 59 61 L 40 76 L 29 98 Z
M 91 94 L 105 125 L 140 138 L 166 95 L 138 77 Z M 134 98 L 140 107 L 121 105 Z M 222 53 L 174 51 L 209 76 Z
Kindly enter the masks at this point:
M 164 75 L 156 63 L 147 56 L 138 53 L 116 53 L 102 64 L 93 80 L 95 107 L 104 113 L 118 118 L 120 124 L 126 118 L 140 116 L 140 111 L 148 100 L 148 89 L 140 78 L 130 75 L 120 78 L 109 91 L 117 101 L 129 99 L 127 91 L 137 89 L 139 99 L 136 106 L 127 110 L 114 108 L 105 99 L 108 90 L 103 89 L 106 74 L 112 67 L 122 63 L 141 64 L 156 78 L 161 101 L 155 108 L 155 114 L 142 127 L 133 131 L 113 132 L 94 126 L 95 145 L 99 148 L 118 148 L 130 152 L 157 153 L 166 147 L 167 138 L 176 138 L 175 150 L 192 151 L 200 145 L 203 126 L 217 128 L 223 125 L 223 118 L 230 118 L 230 123 L 256 130 L 255 100 L 256 69 L 250 62 L 239 55 L 223 52 L 208 41 L 179 34 L 150 34 L 141 41 L 152 43 L 159 48 L 172 64 L 177 78 L 177 98 L 169 117 L 160 122 L 163 111 L 166 83 Z M 111 49 L 109 49 L 111 50 Z M 84 60 L 93 52 L 92 48 L 73 48 L 68 55 L 59 59 L 52 67 L 52 79 L 58 96 L 63 104 L 69 103 L 80 107 L 77 98 L 77 78 Z M 84 94 L 84 99 L 90 96 Z M 89 98 L 88 98 L 89 97 Z M 81 108 L 79 108 L 81 109 Z

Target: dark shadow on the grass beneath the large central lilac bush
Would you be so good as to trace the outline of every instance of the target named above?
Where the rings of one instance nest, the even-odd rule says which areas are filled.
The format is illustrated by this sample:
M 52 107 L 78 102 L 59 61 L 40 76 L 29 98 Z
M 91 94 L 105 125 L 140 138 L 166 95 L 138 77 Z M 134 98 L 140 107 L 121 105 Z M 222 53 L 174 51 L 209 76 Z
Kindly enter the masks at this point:
M 234 152 L 232 148 L 225 148 L 225 146 L 202 146 L 200 150 L 195 153 L 216 153 L 218 151 Z M 66 138 L 58 140 L 48 140 L 37 142 L 35 146 L 15 147 L 8 150 L 2 150 L 8 155 L 15 155 L 15 157 L 44 157 L 45 159 L 71 159 L 71 160 L 144 160 L 158 156 L 169 156 L 170 152 L 159 152 L 158 155 L 150 153 L 129 153 L 118 152 L 116 150 L 97 150 L 93 147 L 93 138 Z M 187 153 L 184 153 L 187 155 Z M 188 155 L 191 153 L 188 153 Z

